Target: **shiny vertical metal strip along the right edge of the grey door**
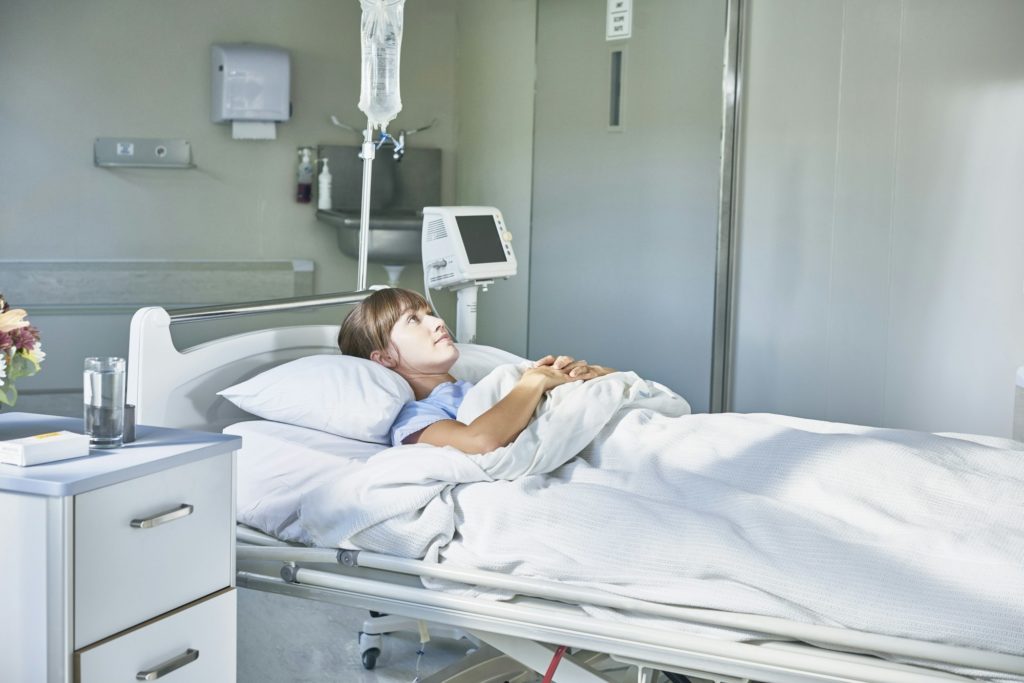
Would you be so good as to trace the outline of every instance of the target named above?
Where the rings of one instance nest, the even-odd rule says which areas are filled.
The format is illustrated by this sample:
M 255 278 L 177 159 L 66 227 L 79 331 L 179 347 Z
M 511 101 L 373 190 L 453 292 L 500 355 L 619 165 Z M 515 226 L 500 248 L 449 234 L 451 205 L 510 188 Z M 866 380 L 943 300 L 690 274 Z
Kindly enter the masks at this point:
M 742 84 L 742 31 L 745 0 L 727 0 L 722 69 L 722 166 L 720 169 L 718 253 L 715 264 L 715 312 L 712 328 L 711 412 L 732 410 L 733 286 Z

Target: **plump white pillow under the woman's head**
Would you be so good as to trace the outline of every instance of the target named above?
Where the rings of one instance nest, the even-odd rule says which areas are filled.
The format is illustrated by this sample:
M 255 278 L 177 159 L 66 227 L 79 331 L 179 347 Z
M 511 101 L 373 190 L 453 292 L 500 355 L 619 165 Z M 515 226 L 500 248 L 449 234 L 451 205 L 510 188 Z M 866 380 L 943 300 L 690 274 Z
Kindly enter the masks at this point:
M 309 355 L 217 392 L 264 420 L 338 436 L 388 442 L 398 411 L 414 399 L 397 373 L 351 355 Z

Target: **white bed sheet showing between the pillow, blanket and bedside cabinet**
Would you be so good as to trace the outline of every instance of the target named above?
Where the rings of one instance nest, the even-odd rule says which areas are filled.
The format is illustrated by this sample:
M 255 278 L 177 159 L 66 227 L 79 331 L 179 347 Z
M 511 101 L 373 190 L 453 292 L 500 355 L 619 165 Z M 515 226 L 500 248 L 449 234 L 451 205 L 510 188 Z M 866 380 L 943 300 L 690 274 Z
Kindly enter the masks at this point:
M 238 520 L 282 541 L 306 545 L 312 540 L 298 524 L 302 497 L 387 447 L 269 420 L 239 422 L 224 433 L 242 437 Z

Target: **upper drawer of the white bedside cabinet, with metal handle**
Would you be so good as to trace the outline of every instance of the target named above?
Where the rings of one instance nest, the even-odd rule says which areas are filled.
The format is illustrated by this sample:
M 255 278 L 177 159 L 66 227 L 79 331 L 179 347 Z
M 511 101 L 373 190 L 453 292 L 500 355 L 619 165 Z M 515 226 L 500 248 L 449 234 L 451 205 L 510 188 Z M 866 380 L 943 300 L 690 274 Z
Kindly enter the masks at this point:
M 232 454 L 75 497 L 75 647 L 231 582 Z

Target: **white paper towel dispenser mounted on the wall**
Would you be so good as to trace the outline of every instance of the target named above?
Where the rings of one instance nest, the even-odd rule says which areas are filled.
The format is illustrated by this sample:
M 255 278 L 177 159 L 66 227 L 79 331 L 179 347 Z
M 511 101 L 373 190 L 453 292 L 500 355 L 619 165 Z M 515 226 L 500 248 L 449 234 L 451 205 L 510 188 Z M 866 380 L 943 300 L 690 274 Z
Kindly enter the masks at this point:
M 253 43 L 214 45 L 211 67 L 213 122 L 230 122 L 236 139 L 274 139 L 276 122 L 292 114 L 288 50 Z

